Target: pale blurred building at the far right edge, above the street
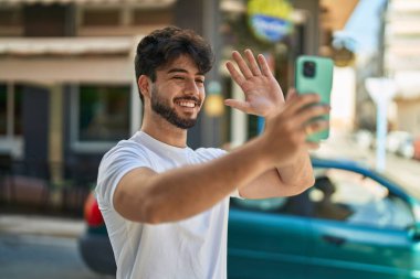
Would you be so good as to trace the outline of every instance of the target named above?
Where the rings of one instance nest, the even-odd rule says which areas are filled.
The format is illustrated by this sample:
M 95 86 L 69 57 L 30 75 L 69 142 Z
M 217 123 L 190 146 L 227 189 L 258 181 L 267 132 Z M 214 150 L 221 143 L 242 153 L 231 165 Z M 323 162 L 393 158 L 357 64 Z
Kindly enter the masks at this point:
M 385 29 L 385 74 L 396 81 L 393 129 L 420 136 L 420 2 L 390 0 Z

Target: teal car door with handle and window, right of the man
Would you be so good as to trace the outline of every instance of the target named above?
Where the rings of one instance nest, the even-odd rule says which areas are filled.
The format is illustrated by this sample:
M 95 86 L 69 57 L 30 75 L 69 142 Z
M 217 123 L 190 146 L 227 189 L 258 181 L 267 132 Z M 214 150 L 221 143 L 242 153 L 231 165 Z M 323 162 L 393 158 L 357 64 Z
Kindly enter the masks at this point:
M 329 169 L 323 175 L 335 189 L 325 194 L 325 186 L 315 185 L 309 193 L 309 273 L 330 279 L 420 278 L 413 248 L 419 243 L 408 233 L 414 224 L 409 203 L 356 172 Z M 329 195 L 328 206 L 321 206 Z

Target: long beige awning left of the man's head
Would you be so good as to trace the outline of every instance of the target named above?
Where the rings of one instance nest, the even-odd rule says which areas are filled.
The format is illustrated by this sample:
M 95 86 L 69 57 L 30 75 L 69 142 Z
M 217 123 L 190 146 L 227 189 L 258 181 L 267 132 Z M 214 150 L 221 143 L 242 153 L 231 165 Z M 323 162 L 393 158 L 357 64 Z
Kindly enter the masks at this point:
M 1 39 L 0 82 L 129 84 L 137 42 L 137 37 Z

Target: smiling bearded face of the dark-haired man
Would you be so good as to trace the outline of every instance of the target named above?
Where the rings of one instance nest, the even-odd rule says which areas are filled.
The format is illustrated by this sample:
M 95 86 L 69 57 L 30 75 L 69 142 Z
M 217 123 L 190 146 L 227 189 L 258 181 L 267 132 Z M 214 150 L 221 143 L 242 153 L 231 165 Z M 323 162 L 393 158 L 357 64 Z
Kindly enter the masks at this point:
M 195 126 L 204 97 L 204 75 L 188 55 L 156 71 L 151 109 L 176 127 Z

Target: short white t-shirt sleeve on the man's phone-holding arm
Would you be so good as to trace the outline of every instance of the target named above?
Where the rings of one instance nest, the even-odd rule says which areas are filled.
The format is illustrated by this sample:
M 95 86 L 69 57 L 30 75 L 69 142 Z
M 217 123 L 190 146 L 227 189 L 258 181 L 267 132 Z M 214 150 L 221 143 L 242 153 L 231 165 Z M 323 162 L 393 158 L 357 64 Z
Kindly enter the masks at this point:
M 141 147 L 116 147 L 102 159 L 96 184 L 101 207 L 114 208 L 113 197 L 122 178 L 136 168 L 150 168 L 146 151 Z

